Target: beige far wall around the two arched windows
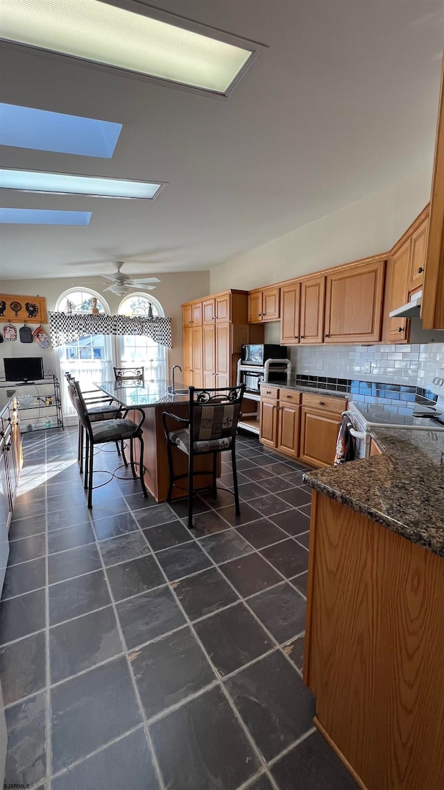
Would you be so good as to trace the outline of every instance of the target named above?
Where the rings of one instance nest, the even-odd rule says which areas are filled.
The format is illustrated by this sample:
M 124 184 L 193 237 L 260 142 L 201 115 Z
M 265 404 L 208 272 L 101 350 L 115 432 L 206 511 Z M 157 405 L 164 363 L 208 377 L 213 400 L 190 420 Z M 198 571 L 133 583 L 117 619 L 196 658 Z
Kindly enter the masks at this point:
M 150 273 L 151 276 L 151 273 Z M 209 294 L 209 272 L 183 272 L 174 274 L 159 274 L 161 282 L 156 286 L 152 295 L 160 302 L 164 308 L 165 315 L 172 319 L 173 348 L 168 352 L 168 364 L 182 365 L 182 310 L 180 305 L 190 299 L 198 299 L 199 296 Z M 40 295 L 47 299 L 47 310 L 54 310 L 57 299 L 68 288 L 92 288 L 94 291 L 103 293 L 103 285 L 100 283 L 99 276 L 90 277 L 62 277 L 44 280 L 2 280 L 0 292 L 6 294 Z M 105 283 L 105 280 L 103 280 Z M 142 290 L 142 289 L 141 289 Z M 103 297 L 110 306 L 111 313 L 116 313 L 121 298 L 110 291 L 103 293 Z M 6 323 L 6 322 L 3 322 Z M 21 324 L 17 324 L 17 330 Z M 30 325 L 32 329 L 36 325 Z M 0 331 L 3 324 L 0 322 Z M 49 334 L 49 327 L 45 325 Z M 18 334 L 18 331 L 17 331 Z M 57 374 L 58 362 L 54 350 L 48 348 L 42 351 L 36 342 L 32 344 L 22 344 L 17 337 L 13 343 L 3 342 L 0 345 L 0 359 L 5 356 L 43 356 L 43 368 L 45 373 L 52 370 Z M 3 375 L 3 365 L 0 363 L 0 375 Z

